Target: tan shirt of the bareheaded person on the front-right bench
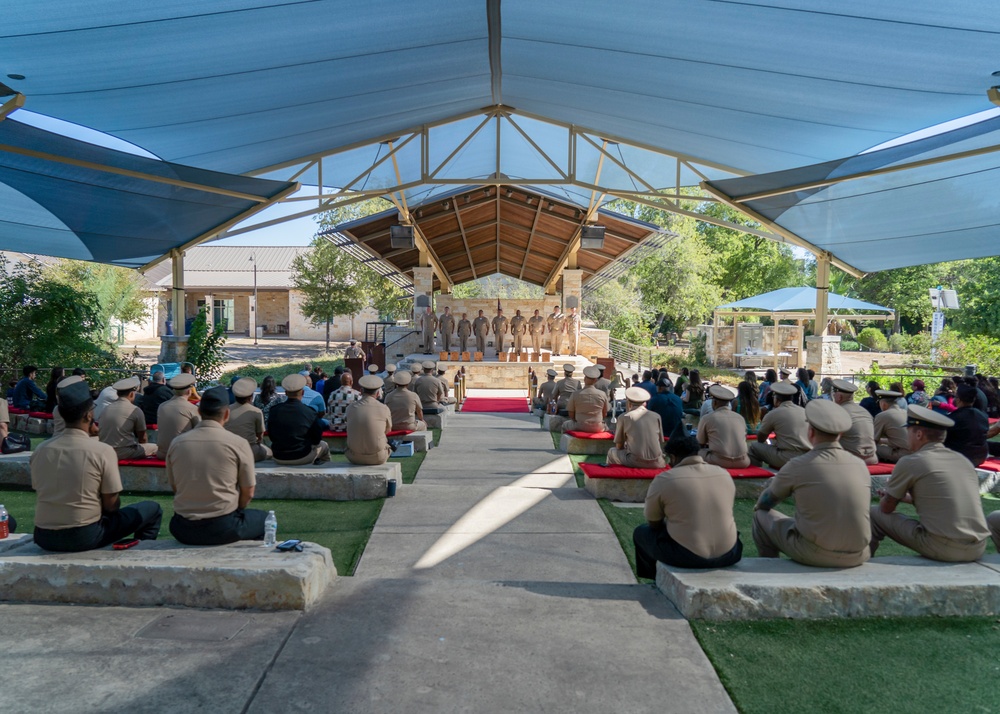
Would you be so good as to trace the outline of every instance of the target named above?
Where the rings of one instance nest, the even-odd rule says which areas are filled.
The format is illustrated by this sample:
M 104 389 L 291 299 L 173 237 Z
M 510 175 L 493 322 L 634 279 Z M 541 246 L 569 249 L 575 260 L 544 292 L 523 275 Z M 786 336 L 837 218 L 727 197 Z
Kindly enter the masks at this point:
M 689 456 L 653 479 L 644 513 L 651 523 L 665 520 L 670 537 L 695 555 L 718 558 L 736 545 L 735 498 L 728 471 Z

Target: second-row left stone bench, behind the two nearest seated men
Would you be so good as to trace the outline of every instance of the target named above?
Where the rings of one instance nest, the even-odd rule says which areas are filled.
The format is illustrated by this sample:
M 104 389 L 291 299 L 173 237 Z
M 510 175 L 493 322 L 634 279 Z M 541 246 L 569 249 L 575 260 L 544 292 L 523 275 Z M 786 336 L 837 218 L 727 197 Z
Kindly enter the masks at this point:
M 31 485 L 29 453 L 0 455 L 0 484 Z M 153 464 L 162 462 L 153 460 Z M 119 466 L 126 491 L 170 493 L 167 472 L 162 466 Z M 384 498 L 388 480 L 403 485 L 403 471 L 398 461 L 380 466 L 323 464 L 282 466 L 274 461 L 255 464 L 255 498 L 289 498 L 316 501 L 370 501 Z

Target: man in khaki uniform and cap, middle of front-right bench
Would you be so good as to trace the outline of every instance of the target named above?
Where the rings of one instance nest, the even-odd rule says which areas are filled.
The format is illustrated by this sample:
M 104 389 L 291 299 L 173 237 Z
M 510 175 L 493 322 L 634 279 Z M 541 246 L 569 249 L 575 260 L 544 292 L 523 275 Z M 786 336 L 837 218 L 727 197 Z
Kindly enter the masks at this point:
M 851 568 L 869 558 L 871 477 L 840 446 L 851 417 L 826 399 L 805 408 L 812 450 L 781 467 L 754 506 L 753 540 L 762 558 L 779 552 L 806 565 Z M 791 496 L 795 517 L 774 507 Z

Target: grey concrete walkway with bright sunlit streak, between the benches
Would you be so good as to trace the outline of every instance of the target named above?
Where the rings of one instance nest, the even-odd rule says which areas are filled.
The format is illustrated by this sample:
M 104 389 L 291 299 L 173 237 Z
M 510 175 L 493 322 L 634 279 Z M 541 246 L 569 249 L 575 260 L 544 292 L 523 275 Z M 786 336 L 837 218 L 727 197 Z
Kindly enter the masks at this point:
M 0 605 L 10 712 L 727 712 L 537 418 L 458 414 L 306 614 Z

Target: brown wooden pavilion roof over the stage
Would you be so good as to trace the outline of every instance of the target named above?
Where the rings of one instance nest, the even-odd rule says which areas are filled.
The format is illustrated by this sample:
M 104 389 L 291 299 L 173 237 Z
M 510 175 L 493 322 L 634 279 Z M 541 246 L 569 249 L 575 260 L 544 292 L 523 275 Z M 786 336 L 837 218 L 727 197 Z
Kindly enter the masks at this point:
M 571 241 L 586 219 L 586 210 L 520 186 L 479 186 L 435 197 L 409 207 L 413 223 L 430 248 L 431 260 L 452 285 L 502 273 L 546 286 L 558 280 Z M 328 233 L 343 236 L 401 274 L 420 265 L 419 250 L 394 250 L 389 228 L 399 223 L 387 211 L 337 226 Z M 662 231 L 609 211 L 597 214 L 605 227 L 604 248 L 577 253 L 583 283 Z M 345 246 L 353 248 L 353 246 Z M 357 253 L 357 249 L 351 250 Z M 440 289 L 437 271 L 435 289 Z M 561 286 L 557 286 L 561 289 Z

